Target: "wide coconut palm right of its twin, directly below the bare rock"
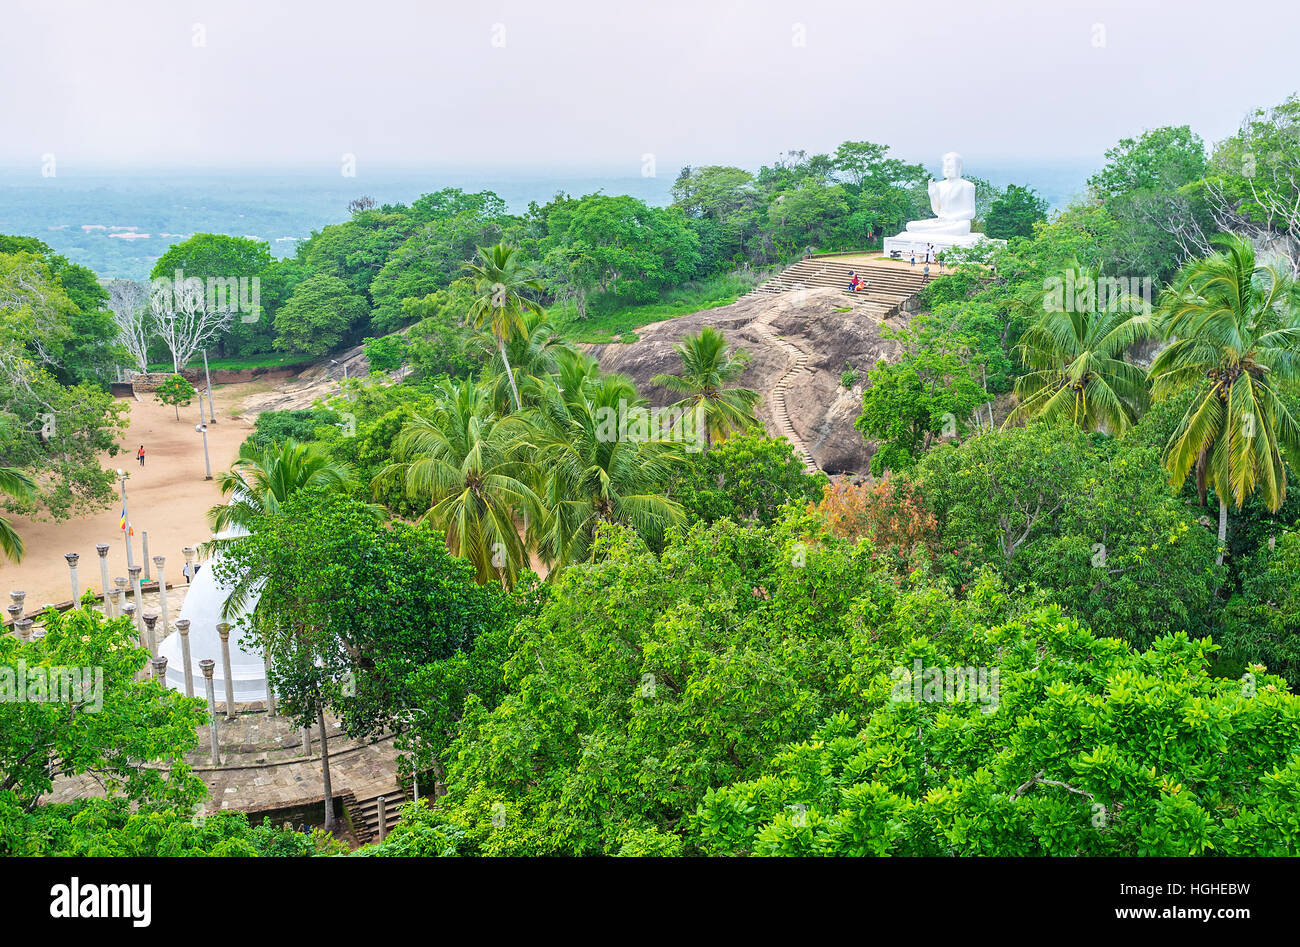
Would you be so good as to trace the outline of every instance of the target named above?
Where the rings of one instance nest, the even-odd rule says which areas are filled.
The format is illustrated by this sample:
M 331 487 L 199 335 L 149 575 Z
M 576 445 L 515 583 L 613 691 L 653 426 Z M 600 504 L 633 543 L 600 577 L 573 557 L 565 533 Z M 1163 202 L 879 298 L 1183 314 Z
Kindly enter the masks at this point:
M 601 523 L 620 523 L 658 542 L 685 522 L 682 507 L 662 493 L 685 455 L 681 445 L 624 431 L 619 419 L 644 410 L 636 385 L 593 371 L 585 356 L 563 359 L 534 416 L 536 470 L 545 516 L 536 523 L 538 554 L 563 567 L 590 555 Z M 646 415 L 642 415 L 646 418 Z

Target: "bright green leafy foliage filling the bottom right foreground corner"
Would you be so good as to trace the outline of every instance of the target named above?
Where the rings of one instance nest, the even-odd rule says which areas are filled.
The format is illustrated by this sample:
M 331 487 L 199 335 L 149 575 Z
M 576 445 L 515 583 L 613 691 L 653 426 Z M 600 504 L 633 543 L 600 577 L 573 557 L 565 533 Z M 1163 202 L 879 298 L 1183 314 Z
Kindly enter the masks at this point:
M 1288 855 L 1300 813 L 1300 697 L 1262 673 L 1206 674 L 1208 641 L 1139 652 L 1054 610 L 918 636 L 768 773 L 706 797 L 714 855 Z M 997 673 L 916 700 L 905 675 Z M 989 688 L 992 689 L 992 688 Z M 965 699 L 959 699 L 965 696 Z

